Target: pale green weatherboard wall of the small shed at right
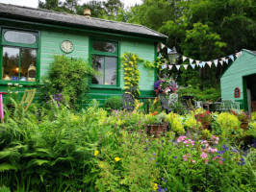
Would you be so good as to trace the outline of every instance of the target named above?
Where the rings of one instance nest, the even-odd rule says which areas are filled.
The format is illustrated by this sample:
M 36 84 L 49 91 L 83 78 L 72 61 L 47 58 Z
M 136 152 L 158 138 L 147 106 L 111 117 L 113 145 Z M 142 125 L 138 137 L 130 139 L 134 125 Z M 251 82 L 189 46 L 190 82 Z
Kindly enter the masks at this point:
M 227 68 L 220 79 L 221 100 L 241 102 L 241 108 L 247 110 L 246 85 L 243 78 L 253 74 L 256 74 L 256 55 L 242 50 L 242 56 Z M 234 96 L 236 87 L 241 90 L 240 98 L 235 98 Z

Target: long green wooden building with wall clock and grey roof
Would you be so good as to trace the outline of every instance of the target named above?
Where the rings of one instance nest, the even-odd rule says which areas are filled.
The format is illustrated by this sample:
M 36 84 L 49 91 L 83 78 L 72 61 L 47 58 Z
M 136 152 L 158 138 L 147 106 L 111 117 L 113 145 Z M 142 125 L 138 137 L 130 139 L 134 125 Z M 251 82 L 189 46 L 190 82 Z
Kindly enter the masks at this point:
M 92 64 L 97 60 L 103 75 L 91 79 L 90 99 L 101 104 L 124 92 L 120 57 L 129 52 L 153 61 L 157 43 L 167 38 L 141 25 L 7 4 L 0 4 L 0 33 L 1 91 L 8 83 L 37 86 L 53 56 L 66 55 Z M 153 96 L 156 71 L 142 64 L 139 69 L 141 96 Z

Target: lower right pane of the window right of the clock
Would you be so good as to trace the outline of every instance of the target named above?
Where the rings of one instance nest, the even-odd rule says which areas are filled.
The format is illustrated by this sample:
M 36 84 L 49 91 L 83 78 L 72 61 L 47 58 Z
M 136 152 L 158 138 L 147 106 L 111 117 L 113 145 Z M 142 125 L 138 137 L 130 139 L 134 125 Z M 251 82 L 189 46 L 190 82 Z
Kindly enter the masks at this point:
M 105 84 L 116 85 L 116 58 L 105 57 Z

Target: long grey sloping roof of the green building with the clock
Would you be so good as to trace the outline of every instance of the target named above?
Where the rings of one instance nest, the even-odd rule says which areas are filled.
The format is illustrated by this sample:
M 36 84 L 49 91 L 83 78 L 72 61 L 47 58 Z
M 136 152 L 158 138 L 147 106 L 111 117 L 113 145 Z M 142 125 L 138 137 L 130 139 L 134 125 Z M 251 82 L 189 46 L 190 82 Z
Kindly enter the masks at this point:
M 80 27 L 100 29 L 119 33 L 129 33 L 133 35 L 151 36 L 166 39 L 167 36 L 154 30 L 137 24 L 115 22 L 99 18 L 87 18 L 83 15 L 69 14 L 64 12 L 52 12 L 28 7 L 13 6 L 0 3 L 0 16 L 16 16 L 16 18 L 34 19 L 43 22 L 54 22 L 71 24 Z

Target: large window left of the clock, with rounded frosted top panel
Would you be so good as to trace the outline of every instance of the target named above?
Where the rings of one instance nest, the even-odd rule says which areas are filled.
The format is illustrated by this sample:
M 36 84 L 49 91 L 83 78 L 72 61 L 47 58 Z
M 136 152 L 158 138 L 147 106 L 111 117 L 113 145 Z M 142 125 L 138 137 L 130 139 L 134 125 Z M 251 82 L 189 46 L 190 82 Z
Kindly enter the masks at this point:
M 3 81 L 36 82 L 38 33 L 2 30 Z

